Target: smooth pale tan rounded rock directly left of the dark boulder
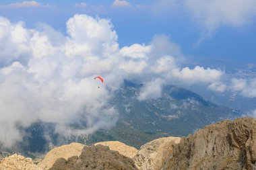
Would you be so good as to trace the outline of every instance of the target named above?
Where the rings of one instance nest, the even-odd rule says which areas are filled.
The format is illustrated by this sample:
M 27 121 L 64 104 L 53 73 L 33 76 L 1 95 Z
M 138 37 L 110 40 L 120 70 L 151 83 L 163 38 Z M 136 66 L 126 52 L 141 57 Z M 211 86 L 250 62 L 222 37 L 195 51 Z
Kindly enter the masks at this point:
M 86 145 L 73 142 L 71 144 L 65 144 L 63 146 L 53 148 L 51 151 L 49 151 L 49 153 L 46 154 L 44 159 L 38 163 L 38 166 L 46 170 L 51 169 L 57 159 L 62 158 L 64 160 L 68 160 L 69 157 L 78 157 L 82 153 L 84 146 Z

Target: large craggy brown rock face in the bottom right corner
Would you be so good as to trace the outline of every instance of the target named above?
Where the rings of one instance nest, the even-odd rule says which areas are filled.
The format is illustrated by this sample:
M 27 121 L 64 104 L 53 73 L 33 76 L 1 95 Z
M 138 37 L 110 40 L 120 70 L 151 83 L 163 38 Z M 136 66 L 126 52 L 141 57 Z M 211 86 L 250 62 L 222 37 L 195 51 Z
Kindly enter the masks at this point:
M 256 169 L 256 119 L 206 126 L 175 144 L 162 169 Z

